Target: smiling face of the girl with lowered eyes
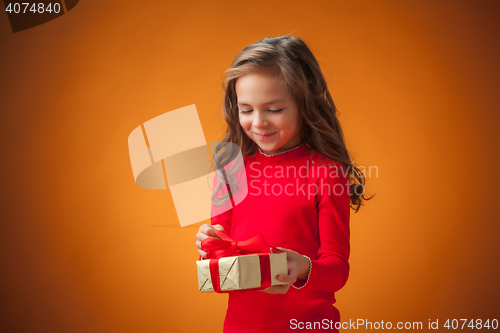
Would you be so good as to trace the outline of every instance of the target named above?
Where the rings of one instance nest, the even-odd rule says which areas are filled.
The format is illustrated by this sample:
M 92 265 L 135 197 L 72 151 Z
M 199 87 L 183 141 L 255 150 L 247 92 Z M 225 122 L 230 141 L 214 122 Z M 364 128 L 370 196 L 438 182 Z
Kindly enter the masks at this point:
M 302 143 L 297 104 L 275 76 L 250 73 L 236 80 L 240 125 L 266 154 Z

